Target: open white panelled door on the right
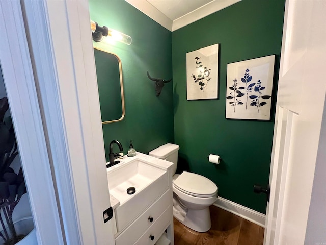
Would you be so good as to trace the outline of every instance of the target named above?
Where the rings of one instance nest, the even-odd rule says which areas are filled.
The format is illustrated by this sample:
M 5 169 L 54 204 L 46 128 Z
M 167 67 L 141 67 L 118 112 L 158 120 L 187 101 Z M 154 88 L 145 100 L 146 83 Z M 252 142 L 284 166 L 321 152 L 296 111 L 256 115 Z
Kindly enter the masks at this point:
M 264 244 L 304 244 L 326 92 L 326 4 L 288 0 Z

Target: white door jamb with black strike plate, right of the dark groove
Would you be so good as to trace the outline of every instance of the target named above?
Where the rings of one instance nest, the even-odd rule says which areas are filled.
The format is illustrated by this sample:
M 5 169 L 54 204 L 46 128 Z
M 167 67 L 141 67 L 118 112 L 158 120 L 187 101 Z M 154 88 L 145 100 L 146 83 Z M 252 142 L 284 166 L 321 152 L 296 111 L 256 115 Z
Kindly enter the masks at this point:
M 112 244 L 88 1 L 25 6 L 67 243 Z

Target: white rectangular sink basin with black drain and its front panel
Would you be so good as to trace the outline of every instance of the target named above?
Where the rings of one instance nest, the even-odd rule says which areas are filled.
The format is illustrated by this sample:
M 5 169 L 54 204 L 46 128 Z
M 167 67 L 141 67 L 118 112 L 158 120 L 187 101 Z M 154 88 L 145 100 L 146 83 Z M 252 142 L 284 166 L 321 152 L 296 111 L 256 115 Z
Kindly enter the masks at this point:
M 107 179 L 110 194 L 120 201 L 115 209 L 118 231 L 169 188 L 167 171 L 140 159 L 108 171 Z M 133 194 L 127 193 L 130 187 L 135 188 Z

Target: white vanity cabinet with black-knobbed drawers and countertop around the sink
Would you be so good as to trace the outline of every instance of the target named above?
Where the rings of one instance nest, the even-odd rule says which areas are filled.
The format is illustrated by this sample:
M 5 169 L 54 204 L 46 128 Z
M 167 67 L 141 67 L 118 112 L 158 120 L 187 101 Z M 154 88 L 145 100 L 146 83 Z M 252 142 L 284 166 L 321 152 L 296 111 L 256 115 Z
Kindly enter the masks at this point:
M 156 167 L 162 170 L 163 174 L 144 187 L 144 189 L 140 190 L 134 195 L 134 197 L 130 197 L 129 200 L 124 201 L 122 200 L 123 197 L 120 197 L 122 201 L 120 201 L 120 206 L 114 208 L 116 219 L 115 228 L 117 228 L 115 229 L 117 231 L 115 234 L 115 244 L 154 245 L 158 240 L 160 240 L 158 244 L 174 245 L 172 163 L 142 153 L 137 153 L 137 157 L 126 158 L 123 160 L 119 163 L 120 166 L 117 166 L 119 165 L 117 164 L 112 167 L 111 175 L 108 174 L 109 189 L 110 177 L 111 179 L 114 179 L 116 178 L 115 175 L 119 174 L 118 171 L 114 170 L 114 168 L 123 169 L 124 164 L 134 164 L 134 161 L 139 161 L 141 164 L 148 163 L 151 167 Z M 108 173 L 109 171 L 110 170 L 108 170 Z M 132 178 L 133 177 L 130 177 L 130 180 Z M 118 188 L 116 185 L 111 185 L 112 189 L 114 189 L 113 186 L 114 188 Z M 114 195 L 114 193 L 115 190 L 112 191 L 112 194 L 110 192 L 111 195 Z M 119 200 L 119 197 L 115 198 Z M 161 236 L 162 238 L 159 239 Z M 163 238 L 165 239 L 165 242 L 161 243 Z

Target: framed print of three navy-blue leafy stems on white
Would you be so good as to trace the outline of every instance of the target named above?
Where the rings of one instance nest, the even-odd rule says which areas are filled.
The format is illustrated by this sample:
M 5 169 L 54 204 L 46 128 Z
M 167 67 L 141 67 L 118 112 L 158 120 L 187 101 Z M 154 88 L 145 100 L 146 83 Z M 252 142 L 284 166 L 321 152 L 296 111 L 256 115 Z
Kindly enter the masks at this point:
M 228 64 L 226 118 L 270 118 L 275 55 Z

